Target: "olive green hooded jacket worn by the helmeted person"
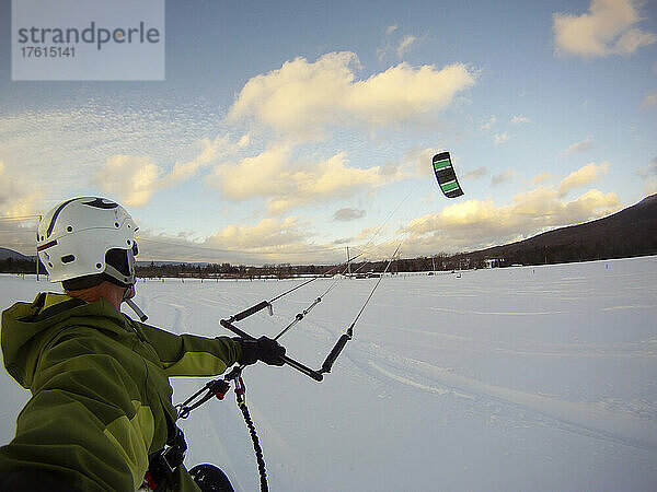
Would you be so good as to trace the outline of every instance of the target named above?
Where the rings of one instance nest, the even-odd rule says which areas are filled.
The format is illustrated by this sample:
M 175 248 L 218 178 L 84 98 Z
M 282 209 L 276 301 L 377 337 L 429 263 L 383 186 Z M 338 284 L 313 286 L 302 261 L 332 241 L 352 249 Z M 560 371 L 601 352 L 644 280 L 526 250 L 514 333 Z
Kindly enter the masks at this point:
M 0 448 L 0 477 L 53 471 L 85 491 L 139 488 L 176 419 L 169 377 L 215 376 L 242 356 L 228 337 L 173 335 L 104 298 L 42 293 L 1 327 L 4 366 L 32 398 Z

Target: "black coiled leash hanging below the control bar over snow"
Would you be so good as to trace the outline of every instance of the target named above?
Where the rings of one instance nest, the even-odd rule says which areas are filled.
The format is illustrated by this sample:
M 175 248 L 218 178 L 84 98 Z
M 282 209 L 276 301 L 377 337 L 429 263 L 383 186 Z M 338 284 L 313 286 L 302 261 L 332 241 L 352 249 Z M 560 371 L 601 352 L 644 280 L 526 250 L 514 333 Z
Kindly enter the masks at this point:
M 206 384 L 201 389 L 192 395 L 187 400 L 183 403 L 177 405 L 176 408 L 178 410 L 178 419 L 186 419 L 189 417 L 189 412 L 198 407 L 200 407 L 206 401 L 218 398 L 222 400 L 230 388 L 230 382 L 234 380 L 235 387 L 235 400 L 238 402 L 238 408 L 242 412 L 244 417 L 244 422 L 246 422 L 246 427 L 249 429 L 249 434 L 251 435 L 251 442 L 253 443 L 253 450 L 255 452 L 255 459 L 257 460 L 257 471 L 260 473 L 261 480 L 261 492 L 268 492 L 269 487 L 267 485 L 267 470 L 265 468 L 265 458 L 263 456 L 263 448 L 260 445 L 260 438 L 257 437 L 257 432 L 255 431 L 255 424 L 251 419 L 251 413 L 249 412 L 249 407 L 246 407 L 246 398 L 244 394 L 246 393 L 246 386 L 244 385 L 244 379 L 242 379 L 242 366 L 235 365 L 230 373 L 226 375 L 223 379 L 214 379 Z M 194 402 L 200 394 L 207 391 L 203 398 L 198 401 Z

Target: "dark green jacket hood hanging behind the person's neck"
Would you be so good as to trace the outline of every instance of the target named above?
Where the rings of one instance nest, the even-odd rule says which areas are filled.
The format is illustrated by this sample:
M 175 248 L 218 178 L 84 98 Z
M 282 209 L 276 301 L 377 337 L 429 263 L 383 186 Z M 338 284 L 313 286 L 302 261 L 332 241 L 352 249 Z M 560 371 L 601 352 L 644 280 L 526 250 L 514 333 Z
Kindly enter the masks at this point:
M 125 327 L 126 318 L 105 298 L 87 303 L 66 294 L 41 293 L 32 304 L 16 303 L 2 312 L 0 345 L 4 367 L 30 389 L 44 347 L 61 330 L 74 325 L 93 325 L 90 318 L 111 318 Z M 71 319 L 77 318 L 77 319 Z

